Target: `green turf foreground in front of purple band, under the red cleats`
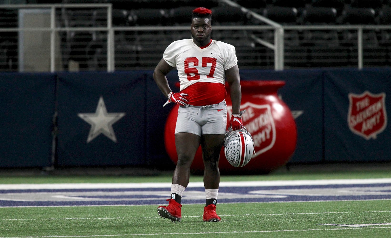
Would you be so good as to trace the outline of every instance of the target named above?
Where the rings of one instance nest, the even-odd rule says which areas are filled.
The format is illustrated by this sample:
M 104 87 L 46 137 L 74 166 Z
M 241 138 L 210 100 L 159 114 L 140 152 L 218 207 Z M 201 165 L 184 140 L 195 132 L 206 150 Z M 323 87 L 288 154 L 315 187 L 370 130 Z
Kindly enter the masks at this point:
M 391 233 L 391 225 L 384 225 L 391 222 L 390 205 L 390 200 L 218 204 L 222 221 L 203 222 L 202 204 L 183 204 L 176 223 L 158 217 L 150 205 L 0 208 L 0 237 L 383 238 Z

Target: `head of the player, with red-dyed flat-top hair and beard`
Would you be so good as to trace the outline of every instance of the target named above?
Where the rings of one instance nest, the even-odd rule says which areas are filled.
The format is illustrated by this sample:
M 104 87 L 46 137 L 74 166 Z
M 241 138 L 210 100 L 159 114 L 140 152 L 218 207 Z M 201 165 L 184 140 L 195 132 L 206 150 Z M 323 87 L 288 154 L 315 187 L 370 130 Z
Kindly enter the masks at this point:
M 205 7 L 198 7 L 192 11 L 191 33 L 195 41 L 204 45 L 210 41 L 212 32 L 212 11 Z

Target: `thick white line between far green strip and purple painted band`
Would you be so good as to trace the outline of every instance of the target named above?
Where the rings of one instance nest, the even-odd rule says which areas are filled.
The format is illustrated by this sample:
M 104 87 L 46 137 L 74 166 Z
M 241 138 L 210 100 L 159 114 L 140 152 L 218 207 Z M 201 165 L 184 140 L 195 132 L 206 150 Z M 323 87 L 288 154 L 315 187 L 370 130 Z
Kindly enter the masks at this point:
M 302 186 L 331 184 L 382 184 L 391 183 L 384 179 L 318 179 L 318 180 L 276 180 L 221 182 L 220 187 L 256 186 Z M 190 182 L 188 188 L 204 187 L 203 182 Z M 171 183 L 54 183 L 54 184 L 0 184 L 0 190 L 23 189 L 111 189 L 111 188 L 171 188 Z

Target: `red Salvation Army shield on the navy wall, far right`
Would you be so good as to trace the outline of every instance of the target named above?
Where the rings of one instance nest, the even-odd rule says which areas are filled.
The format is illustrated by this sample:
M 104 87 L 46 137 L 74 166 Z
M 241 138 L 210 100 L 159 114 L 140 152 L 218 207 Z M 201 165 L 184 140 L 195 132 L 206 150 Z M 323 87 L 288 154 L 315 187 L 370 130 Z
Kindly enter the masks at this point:
M 349 93 L 348 125 L 350 130 L 369 140 L 376 139 L 387 126 L 386 93 L 360 95 Z

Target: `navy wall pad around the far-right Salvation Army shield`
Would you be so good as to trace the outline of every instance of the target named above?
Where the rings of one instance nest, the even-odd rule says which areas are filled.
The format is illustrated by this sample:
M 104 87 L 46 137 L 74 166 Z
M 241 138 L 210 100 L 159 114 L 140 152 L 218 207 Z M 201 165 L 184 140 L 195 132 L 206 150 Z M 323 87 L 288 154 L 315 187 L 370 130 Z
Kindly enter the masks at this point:
M 325 72 L 325 160 L 328 162 L 390 161 L 391 125 L 376 139 L 354 134 L 348 126 L 349 93 L 386 94 L 391 112 L 391 69 L 344 69 Z

